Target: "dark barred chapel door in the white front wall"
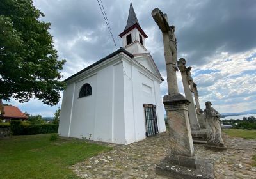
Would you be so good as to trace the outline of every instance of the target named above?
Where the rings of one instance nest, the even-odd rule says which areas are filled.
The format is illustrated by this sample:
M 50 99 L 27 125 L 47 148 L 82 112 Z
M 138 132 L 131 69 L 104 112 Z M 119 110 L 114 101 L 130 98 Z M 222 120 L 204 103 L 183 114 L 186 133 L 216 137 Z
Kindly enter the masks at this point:
M 156 105 L 144 104 L 146 136 L 155 136 L 158 134 Z

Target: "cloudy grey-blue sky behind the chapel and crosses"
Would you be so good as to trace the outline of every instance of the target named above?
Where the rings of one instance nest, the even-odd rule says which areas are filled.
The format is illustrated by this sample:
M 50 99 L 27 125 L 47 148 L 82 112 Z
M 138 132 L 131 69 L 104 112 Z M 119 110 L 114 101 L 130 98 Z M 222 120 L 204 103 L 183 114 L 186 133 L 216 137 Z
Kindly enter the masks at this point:
M 129 0 L 102 0 L 118 47 L 129 13 Z M 34 0 L 51 22 L 51 35 L 60 59 L 67 59 L 61 71 L 63 79 L 115 51 L 97 0 Z M 146 48 L 152 54 L 165 81 L 161 95 L 166 95 L 166 72 L 161 31 L 151 12 L 159 8 L 167 13 L 169 24 L 176 26 L 178 58 L 192 66 L 198 84 L 201 108 L 210 100 L 220 113 L 256 109 L 256 1 L 255 0 L 134 0 L 141 28 L 148 35 Z M 178 72 L 179 91 L 182 89 Z M 62 100 L 62 98 L 61 98 Z M 39 100 L 19 104 L 31 114 L 53 116 L 58 105 L 50 107 Z

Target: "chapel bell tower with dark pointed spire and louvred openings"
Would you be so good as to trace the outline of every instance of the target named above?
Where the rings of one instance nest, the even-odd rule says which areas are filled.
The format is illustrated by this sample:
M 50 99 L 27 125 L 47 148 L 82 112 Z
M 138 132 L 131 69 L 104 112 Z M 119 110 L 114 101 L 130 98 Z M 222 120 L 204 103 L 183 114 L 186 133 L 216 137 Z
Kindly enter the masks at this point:
M 131 52 L 132 54 L 147 52 L 147 49 L 145 47 L 145 38 L 147 38 L 148 36 L 140 27 L 140 24 L 132 7 L 132 2 L 130 4 L 127 24 L 124 31 L 120 33 L 119 36 L 123 40 L 122 47 L 124 47 L 125 50 Z

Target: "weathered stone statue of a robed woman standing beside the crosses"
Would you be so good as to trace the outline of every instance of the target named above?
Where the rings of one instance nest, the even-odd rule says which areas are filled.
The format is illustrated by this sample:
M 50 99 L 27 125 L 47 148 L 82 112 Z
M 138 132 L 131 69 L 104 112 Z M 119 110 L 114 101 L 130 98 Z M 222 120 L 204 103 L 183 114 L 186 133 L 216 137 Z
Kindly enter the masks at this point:
M 205 102 L 204 120 L 207 128 L 207 146 L 224 148 L 223 139 L 221 137 L 221 115 L 211 106 L 211 102 Z

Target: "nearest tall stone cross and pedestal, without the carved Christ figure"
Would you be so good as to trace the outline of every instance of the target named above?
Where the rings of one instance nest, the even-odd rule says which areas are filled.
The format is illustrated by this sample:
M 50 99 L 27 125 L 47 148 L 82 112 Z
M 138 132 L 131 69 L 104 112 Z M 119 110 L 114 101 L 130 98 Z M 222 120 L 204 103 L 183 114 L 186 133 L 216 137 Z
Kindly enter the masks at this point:
M 156 8 L 152 11 L 152 17 L 163 33 L 164 57 L 166 60 L 169 93 L 169 95 L 164 96 L 163 104 L 166 109 L 168 125 L 170 127 L 171 145 L 170 154 L 156 166 L 156 173 L 172 178 L 198 178 L 198 175 L 200 175 L 200 178 L 205 179 L 214 178 L 212 161 L 198 159 L 195 155 L 188 115 L 188 105 L 190 102 L 178 91 L 176 63 L 168 63 L 172 54 L 171 50 L 168 48 L 169 42 L 167 41 L 167 38 L 169 40 L 168 34 L 166 33 L 169 29 L 166 20 L 167 15 L 164 15 Z M 193 101 L 193 98 L 191 101 Z M 198 123 L 197 128 L 200 130 Z

